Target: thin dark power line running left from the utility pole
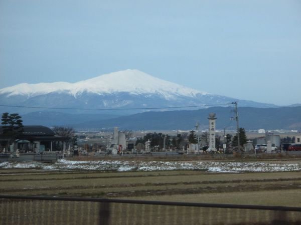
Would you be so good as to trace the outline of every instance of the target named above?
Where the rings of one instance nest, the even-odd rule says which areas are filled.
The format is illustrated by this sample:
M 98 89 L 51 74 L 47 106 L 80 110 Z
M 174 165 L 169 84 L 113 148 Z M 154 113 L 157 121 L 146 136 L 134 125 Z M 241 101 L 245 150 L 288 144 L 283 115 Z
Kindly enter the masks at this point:
M 233 103 L 223 103 L 214 105 L 194 105 L 194 106 L 174 106 L 174 107 L 150 107 L 150 108 L 56 108 L 56 107 L 37 107 L 37 106 L 21 106 L 21 105 L 0 105 L 3 107 L 17 107 L 17 108 L 32 108 L 32 109 L 66 109 L 66 110 L 146 110 L 146 109 L 177 109 L 177 108 L 194 108 L 194 107 L 206 107 L 206 106 L 219 106 L 219 105 L 230 105 Z

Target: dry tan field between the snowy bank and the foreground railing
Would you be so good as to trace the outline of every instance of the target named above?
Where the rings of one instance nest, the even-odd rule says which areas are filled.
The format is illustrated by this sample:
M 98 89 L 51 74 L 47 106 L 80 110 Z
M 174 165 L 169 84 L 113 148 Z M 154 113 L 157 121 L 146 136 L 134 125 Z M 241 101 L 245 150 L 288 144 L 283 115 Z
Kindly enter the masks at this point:
M 301 172 L 87 172 L 1 169 L 11 195 L 81 196 L 301 207 Z

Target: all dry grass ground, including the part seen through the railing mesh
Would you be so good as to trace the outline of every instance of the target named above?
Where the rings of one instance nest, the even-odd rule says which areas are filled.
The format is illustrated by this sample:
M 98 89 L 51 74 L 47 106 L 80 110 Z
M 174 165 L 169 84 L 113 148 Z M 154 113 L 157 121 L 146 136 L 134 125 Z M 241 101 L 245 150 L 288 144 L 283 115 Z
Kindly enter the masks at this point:
M 253 166 L 254 170 L 257 165 L 265 168 L 269 166 L 282 168 L 282 164 L 295 165 L 296 161 L 277 160 L 276 164 L 273 162 L 264 165 L 239 163 L 235 166 Z M 93 163 L 95 164 L 91 162 L 92 165 Z M 112 168 L 115 170 L 104 171 L 82 169 L 86 168 L 82 167 L 85 164 L 89 163 L 84 162 L 71 169 L 1 168 L 0 193 L 301 207 L 299 171 L 244 173 L 209 172 L 205 169 L 117 171 L 117 167 L 114 166 Z M 221 162 L 213 164 L 220 166 Z M 296 166 L 291 168 L 298 168 Z M 227 169 L 229 168 L 228 166 Z M 109 208 L 110 216 L 106 217 L 107 223 L 103 223 L 100 222 L 103 221 L 104 213 L 103 204 L 100 202 L 1 199 L 0 225 L 265 225 L 274 224 L 279 216 L 283 219 L 281 222 L 296 225 L 300 224 L 301 220 L 300 212 L 294 211 L 128 203 L 110 203 Z

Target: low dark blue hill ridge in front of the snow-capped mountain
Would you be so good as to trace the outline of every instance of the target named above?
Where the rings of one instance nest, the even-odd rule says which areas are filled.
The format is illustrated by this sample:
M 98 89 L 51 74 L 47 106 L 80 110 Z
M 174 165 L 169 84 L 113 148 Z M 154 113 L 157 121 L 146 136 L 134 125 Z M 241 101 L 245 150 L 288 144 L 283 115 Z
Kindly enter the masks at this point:
M 58 112 L 30 113 L 23 116 L 26 125 L 63 125 L 81 128 L 110 129 L 115 126 L 130 130 L 193 129 L 199 121 L 200 129 L 208 128 L 208 114 L 215 112 L 217 129 L 236 129 L 233 107 L 211 107 L 199 110 L 143 112 L 129 116 L 109 114 L 66 114 Z M 239 107 L 239 125 L 248 130 L 301 130 L 301 106 L 279 108 Z

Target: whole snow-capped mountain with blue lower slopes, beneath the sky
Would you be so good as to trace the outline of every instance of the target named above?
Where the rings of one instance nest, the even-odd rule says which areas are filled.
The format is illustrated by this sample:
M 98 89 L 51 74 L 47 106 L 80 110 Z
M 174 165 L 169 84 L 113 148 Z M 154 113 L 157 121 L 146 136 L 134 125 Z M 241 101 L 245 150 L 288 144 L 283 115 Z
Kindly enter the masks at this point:
M 27 107 L 152 108 L 214 105 L 233 101 L 238 101 L 239 106 L 275 107 L 271 104 L 205 93 L 161 80 L 138 70 L 119 71 L 76 83 L 23 83 L 0 89 L 1 105 Z M 1 110 L 26 113 L 38 109 L 1 106 Z

